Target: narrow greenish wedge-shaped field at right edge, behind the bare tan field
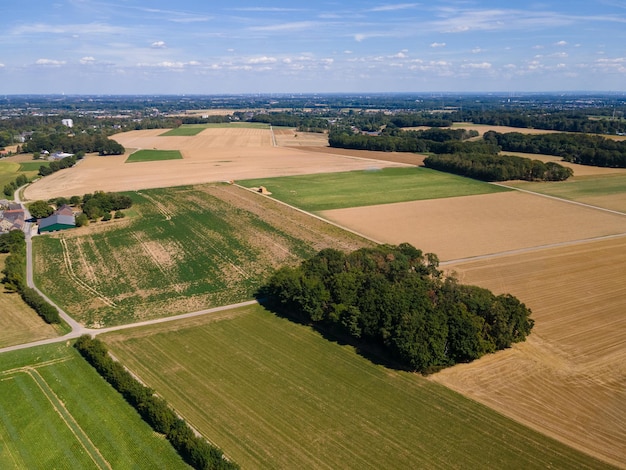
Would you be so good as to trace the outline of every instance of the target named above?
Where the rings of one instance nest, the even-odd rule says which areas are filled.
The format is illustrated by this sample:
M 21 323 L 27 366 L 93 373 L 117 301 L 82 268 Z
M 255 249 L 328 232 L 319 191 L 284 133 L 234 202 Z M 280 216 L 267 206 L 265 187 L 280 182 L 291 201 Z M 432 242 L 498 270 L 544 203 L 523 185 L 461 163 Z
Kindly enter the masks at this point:
M 626 174 L 581 176 L 568 181 L 554 183 L 506 183 L 516 188 L 556 196 L 570 201 L 597 204 L 599 198 L 611 197 L 611 209 L 626 212 Z M 619 205 L 622 196 L 622 203 Z M 615 197 L 618 196 L 618 197 Z M 618 204 L 616 207 L 615 204 Z

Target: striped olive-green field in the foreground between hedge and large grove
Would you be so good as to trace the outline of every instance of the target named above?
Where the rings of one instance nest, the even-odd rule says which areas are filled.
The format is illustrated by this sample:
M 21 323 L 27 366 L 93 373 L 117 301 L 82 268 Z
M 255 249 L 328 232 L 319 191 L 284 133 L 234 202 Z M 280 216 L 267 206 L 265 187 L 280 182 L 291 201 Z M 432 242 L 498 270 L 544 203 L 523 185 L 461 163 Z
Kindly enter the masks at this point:
M 101 336 L 242 468 L 603 468 L 259 306 Z

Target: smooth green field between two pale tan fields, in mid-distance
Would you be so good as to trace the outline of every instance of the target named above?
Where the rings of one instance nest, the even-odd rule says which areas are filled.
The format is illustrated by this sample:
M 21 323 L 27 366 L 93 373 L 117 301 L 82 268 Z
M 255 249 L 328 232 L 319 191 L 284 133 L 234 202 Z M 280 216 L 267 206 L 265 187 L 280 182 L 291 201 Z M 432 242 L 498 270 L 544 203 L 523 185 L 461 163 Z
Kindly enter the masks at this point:
M 384 168 L 237 181 L 310 212 L 506 191 L 428 168 Z

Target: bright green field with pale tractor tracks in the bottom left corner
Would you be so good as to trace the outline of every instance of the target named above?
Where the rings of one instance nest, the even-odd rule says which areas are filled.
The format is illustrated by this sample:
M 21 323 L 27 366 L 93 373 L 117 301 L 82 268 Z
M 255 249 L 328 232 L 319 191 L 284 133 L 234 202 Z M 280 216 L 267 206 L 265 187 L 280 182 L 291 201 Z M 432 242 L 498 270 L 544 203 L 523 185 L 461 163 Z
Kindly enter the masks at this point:
M 0 355 L 0 468 L 188 468 L 65 344 Z

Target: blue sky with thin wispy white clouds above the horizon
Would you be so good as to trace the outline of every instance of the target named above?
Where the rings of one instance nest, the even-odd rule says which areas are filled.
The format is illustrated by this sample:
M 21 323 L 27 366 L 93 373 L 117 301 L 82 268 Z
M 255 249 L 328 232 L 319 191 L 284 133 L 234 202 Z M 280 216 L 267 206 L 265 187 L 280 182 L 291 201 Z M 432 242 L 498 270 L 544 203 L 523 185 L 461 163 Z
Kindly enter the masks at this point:
M 21 0 L 0 15 L 0 94 L 626 91 L 626 0 Z

